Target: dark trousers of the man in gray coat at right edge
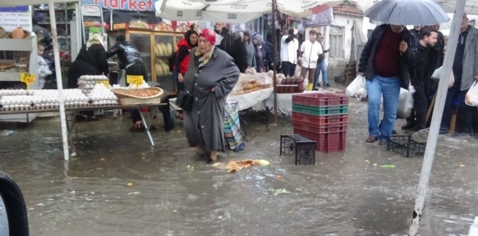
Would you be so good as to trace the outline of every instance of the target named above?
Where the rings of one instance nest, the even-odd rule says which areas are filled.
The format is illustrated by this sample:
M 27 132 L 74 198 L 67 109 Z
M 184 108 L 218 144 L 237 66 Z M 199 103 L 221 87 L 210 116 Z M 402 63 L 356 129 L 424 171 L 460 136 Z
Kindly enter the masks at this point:
M 453 102 L 455 101 L 455 99 L 458 98 L 460 101 L 458 108 L 460 116 L 458 118 L 461 121 L 459 126 L 461 127 L 461 130 L 463 132 L 471 133 L 474 107 L 465 104 L 465 95 L 468 90 L 460 90 L 460 84 L 461 83 L 456 83 L 455 81 L 455 85 L 448 89 L 447 99 L 445 101 L 445 108 L 443 110 L 442 125 L 440 129 L 448 130 L 450 128 Z

